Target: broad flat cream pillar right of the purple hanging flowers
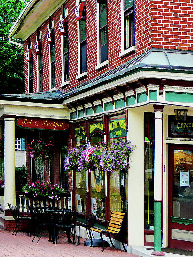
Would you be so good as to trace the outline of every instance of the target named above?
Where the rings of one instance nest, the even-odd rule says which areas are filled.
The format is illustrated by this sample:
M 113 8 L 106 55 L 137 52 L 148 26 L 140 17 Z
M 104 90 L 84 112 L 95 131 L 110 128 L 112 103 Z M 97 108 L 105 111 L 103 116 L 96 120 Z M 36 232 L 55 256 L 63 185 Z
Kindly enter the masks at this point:
M 137 146 L 128 171 L 128 239 L 130 246 L 144 246 L 144 110 L 128 110 L 128 130 Z

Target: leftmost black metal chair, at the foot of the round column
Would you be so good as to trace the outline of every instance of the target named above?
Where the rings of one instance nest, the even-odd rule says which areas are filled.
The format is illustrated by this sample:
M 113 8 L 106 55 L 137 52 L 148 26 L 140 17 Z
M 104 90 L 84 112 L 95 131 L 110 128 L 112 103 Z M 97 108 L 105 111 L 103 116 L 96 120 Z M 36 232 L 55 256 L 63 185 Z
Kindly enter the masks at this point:
M 29 236 L 29 229 L 30 229 L 30 221 L 31 218 L 30 217 L 25 217 L 25 216 L 21 216 L 19 214 L 19 208 L 17 206 L 14 206 L 12 204 L 9 204 L 9 209 L 11 211 L 11 215 L 13 216 L 14 220 L 16 221 L 16 225 L 15 225 L 15 229 L 13 230 L 13 234 L 15 233 L 15 236 L 19 230 L 19 225 L 21 223 L 21 221 L 27 221 L 27 235 Z M 13 235 L 12 234 L 12 235 Z M 30 231 L 30 236 L 31 236 L 31 231 Z

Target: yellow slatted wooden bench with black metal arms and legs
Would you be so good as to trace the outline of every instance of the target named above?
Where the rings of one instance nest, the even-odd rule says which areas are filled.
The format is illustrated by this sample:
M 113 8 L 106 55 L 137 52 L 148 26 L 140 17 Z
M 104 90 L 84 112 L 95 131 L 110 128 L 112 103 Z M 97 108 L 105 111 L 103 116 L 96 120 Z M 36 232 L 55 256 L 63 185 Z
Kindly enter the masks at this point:
M 127 252 L 127 250 L 124 246 L 123 236 L 122 236 L 122 233 L 121 233 L 121 228 L 122 228 L 122 223 L 123 223 L 124 216 L 125 216 L 125 213 L 112 211 L 110 219 L 102 221 L 102 222 L 105 222 L 107 224 L 107 228 L 105 230 L 102 230 L 102 229 L 99 229 L 99 228 L 90 228 L 90 230 L 91 230 L 91 231 L 89 231 L 90 235 L 91 235 L 90 232 L 92 232 L 92 231 L 100 233 L 100 237 L 101 237 L 101 240 L 102 240 L 102 252 L 104 251 L 104 241 L 103 241 L 103 238 L 102 238 L 103 233 L 108 234 L 108 236 L 110 238 L 110 242 L 112 244 L 112 247 L 115 247 L 115 246 L 112 243 L 111 235 L 118 236 L 120 238 L 120 241 L 122 242 L 122 245 L 123 245 L 123 248 L 124 248 L 125 252 Z M 92 242 L 91 242 L 91 245 L 92 245 Z

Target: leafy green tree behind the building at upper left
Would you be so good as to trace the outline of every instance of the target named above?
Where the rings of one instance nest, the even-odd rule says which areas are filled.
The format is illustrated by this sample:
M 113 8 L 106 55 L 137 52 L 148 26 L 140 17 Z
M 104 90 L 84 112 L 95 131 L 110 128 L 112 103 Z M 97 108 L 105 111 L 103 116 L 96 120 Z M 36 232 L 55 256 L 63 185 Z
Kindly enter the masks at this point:
M 0 3 L 0 93 L 24 93 L 23 47 L 9 42 L 9 29 L 29 0 L 1 0 Z M 14 39 L 22 43 L 21 39 Z

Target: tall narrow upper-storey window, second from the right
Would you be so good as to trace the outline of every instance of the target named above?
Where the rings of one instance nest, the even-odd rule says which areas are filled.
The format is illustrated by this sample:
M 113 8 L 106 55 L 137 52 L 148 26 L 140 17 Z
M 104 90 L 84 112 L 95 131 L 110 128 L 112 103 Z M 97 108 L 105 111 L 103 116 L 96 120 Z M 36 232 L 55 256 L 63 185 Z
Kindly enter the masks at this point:
M 108 60 L 107 1 L 99 3 L 100 63 Z

